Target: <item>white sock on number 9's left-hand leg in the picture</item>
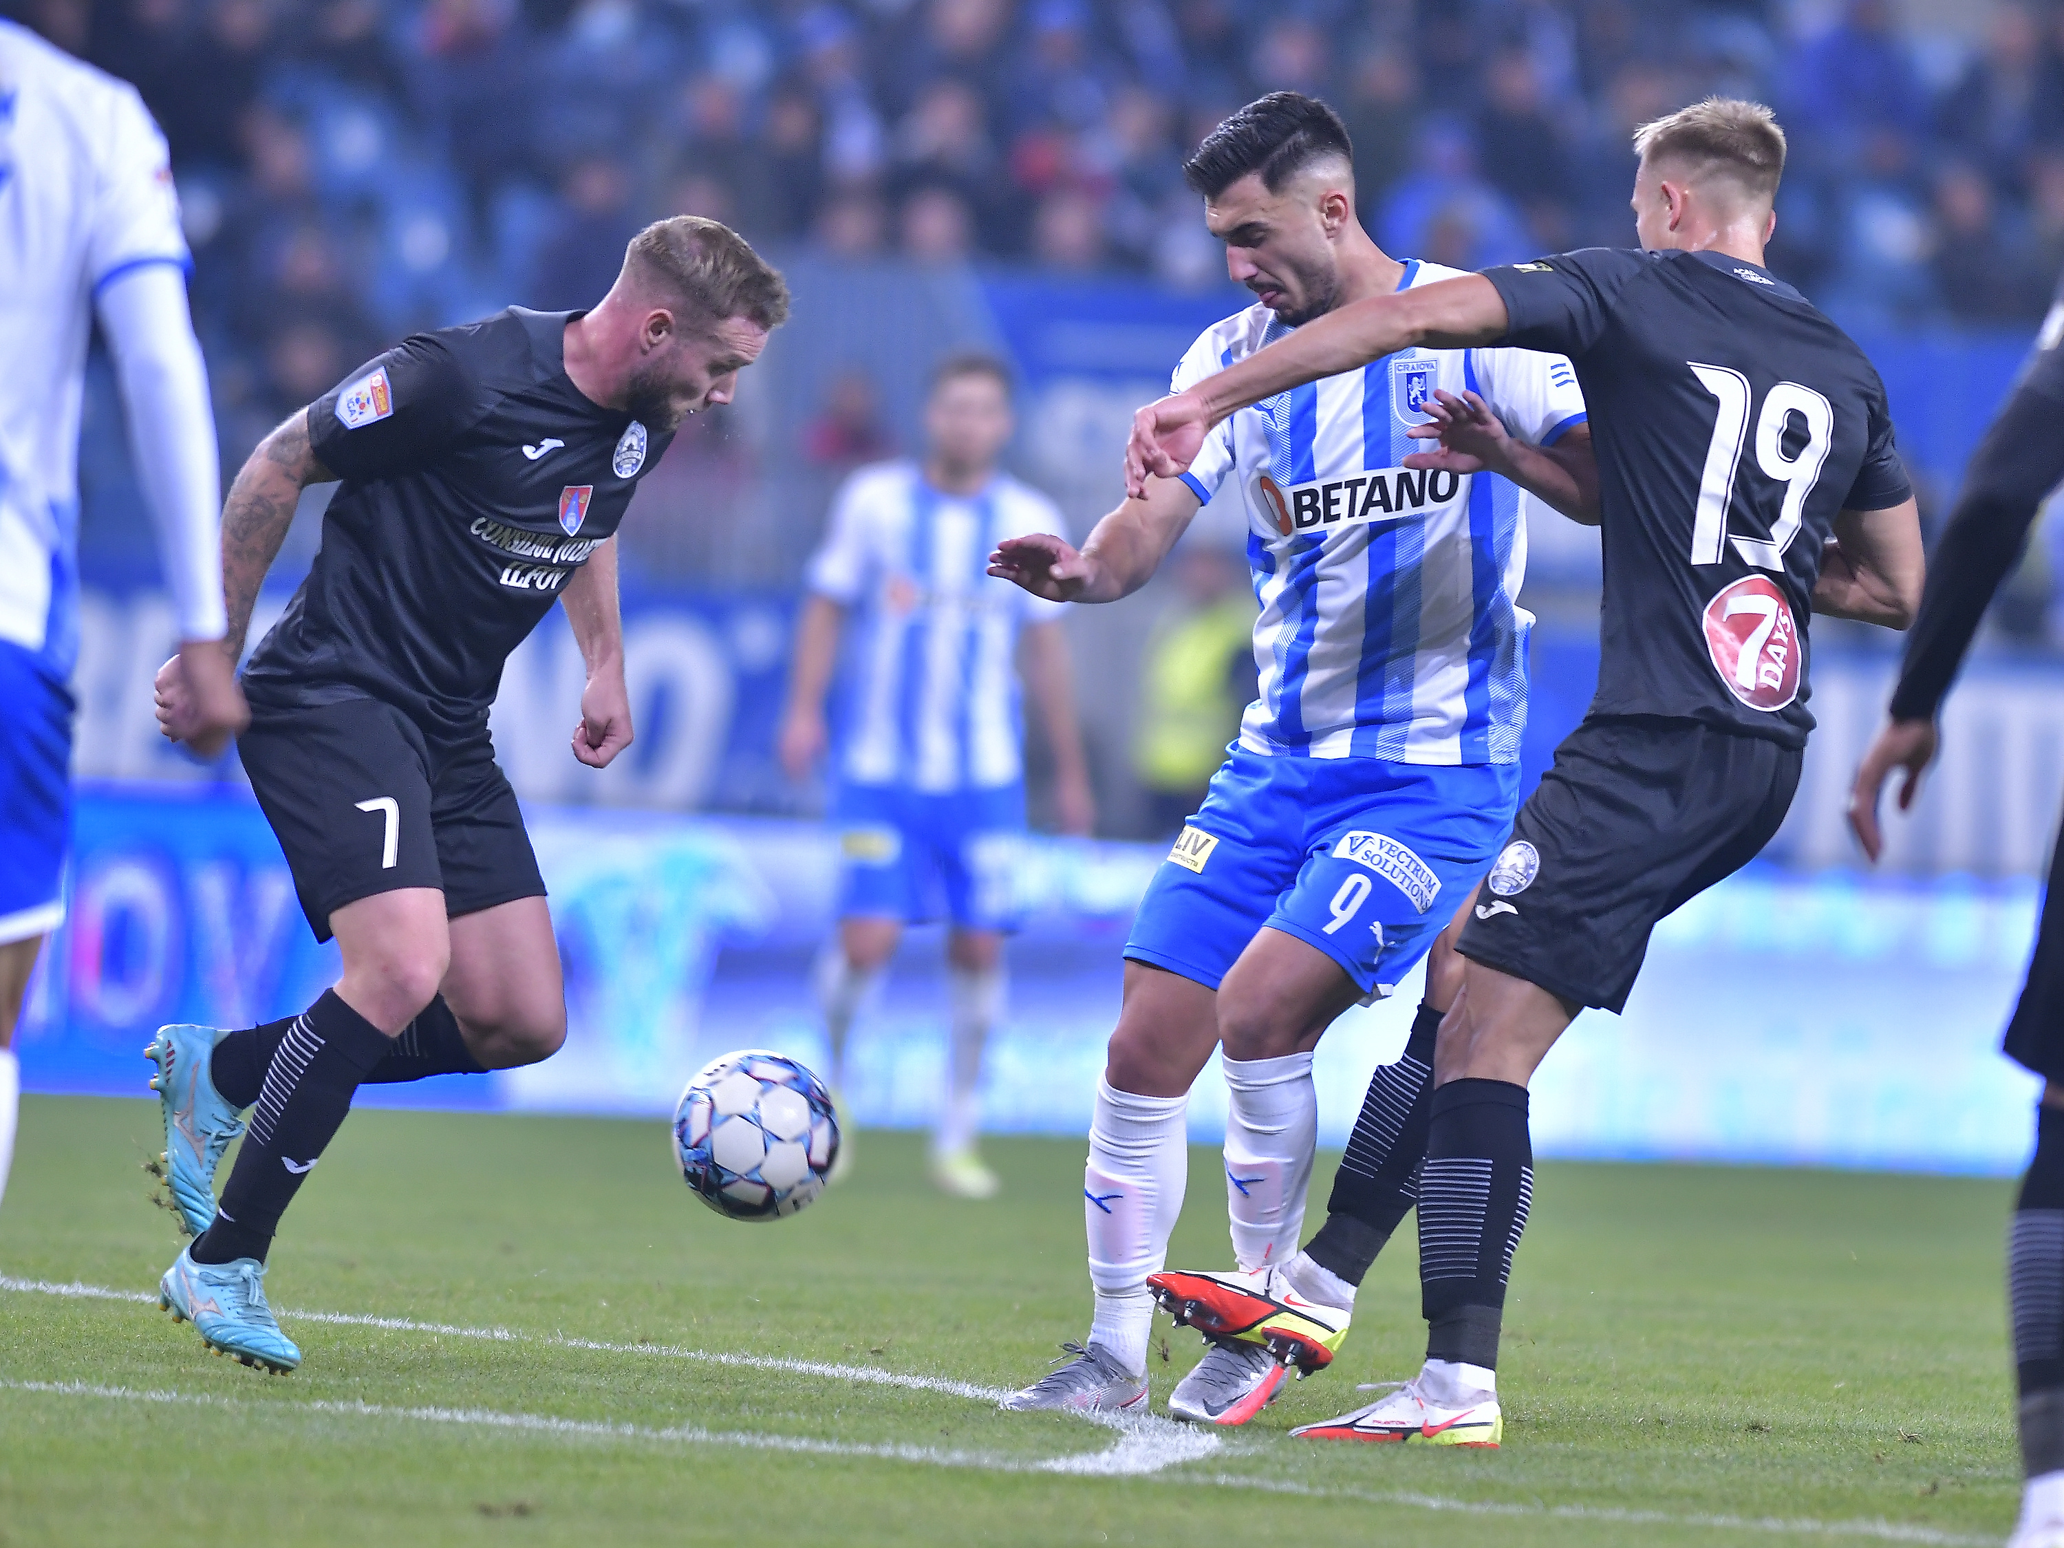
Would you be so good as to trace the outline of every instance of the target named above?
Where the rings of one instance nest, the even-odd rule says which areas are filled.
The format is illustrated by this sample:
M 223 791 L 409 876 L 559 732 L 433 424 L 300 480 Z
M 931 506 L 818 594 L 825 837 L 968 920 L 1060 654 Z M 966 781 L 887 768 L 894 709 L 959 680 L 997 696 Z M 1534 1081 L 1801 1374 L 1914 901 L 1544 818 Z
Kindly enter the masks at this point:
M 1189 1181 L 1187 1096 L 1133 1096 L 1096 1082 L 1082 1218 L 1090 1234 L 1096 1319 L 1090 1342 L 1133 1375 L 1148 1368 L 1154 1296 L 1148 1276 L 1168 1261 L 1168 1236 Z

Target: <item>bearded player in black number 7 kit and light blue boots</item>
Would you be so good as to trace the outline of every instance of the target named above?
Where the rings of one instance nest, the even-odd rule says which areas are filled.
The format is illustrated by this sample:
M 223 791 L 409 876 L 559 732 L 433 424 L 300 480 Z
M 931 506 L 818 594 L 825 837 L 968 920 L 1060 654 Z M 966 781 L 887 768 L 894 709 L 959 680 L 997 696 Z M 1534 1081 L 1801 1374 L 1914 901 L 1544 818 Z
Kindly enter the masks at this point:
M 588 669 L 574 757 L 605 768 L 630 745 L 617 524 L 681 419 L 731 402 L 786 314 L 780 275 L 739 235 L 660 221 L 592 312 L 510 308 L 415 334 L 237 475 L 223 510 L 231 658 L 301 489 L 343 483 L 308 580 L 244 671 L 237 751 L 345 972 L 297 1018 L 167 1026 L 149 1049 L 163 1176 L 194 1236 L 159 1300 L 211 1348 L 301 1362 L 264 1300 L 266 1251 L 359 1084 L 508 1069 L 566 1038 L 545 883 L 487 710 L 510 650 L 559 603 Z M 157 691 L 173 724 L 178 658 Z

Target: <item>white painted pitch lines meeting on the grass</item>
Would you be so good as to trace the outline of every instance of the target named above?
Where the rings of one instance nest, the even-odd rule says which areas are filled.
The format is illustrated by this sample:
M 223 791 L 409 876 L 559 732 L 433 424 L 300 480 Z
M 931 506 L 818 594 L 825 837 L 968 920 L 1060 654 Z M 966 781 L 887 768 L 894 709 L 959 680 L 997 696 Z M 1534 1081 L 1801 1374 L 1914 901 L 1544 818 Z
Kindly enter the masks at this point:
M 0 1290 L 19 1294 L 66 1296 L 78 1300 L 122 1300 L 157 1304 L 157 1296 L 147 1290 L 116 1290 L 78 1280 L 17 1280 L 0 1273 Z M 390 1333 L 436 1333 L 444 1337 L 483 1340 L 493 1344 L 551 1344 L 568 1350 L 596 1354 L 644 1354 L 671 1360 L 694 1360 L 700 1364 L 735 1366 L 745 1370 L 774 1370 L 799 1377 L 828 1377 L 834 1381 L 859 1381 L 906 1391 L 935 1391 L 947 1397 L 974 1401 L 997 1401 L 999 1387 L 980 1387 L 970 1381 L 947 1377 L 914 1377 L 898 1370 L 877 1370 L 863 1364 L 830 1364 L 819 1360 L 791 1360 L 764 1354 L 720 1354 L 712 1350 L 687 1350 L 673 1344 L 607 1344 L 601 1340 L 566 1337 L 563 1333 L 522 1333 L 510 1327 L 462 1327 L 454 1323 L 419 1323 L 407 1317 L 357 1317 L 334 1311 L 281 1311 L 281 1317 L 305 1323 L 328 1323 L 334 1327 L 376 1327 Z M 227 1397 L 198 1393 L 138 1393 L 126 1387 L 93 1387 L 85 1383 L 35 1383 L 0 1379 L 0 1389 L 60 1393 L 80 1397 L 116 1397 L 128 1401 L 202 1404 L 221 1408 L 258 1408 L 258 1404 L 237 1404 Z M 495 1410 L 448 1410 L 448 1408 L 384 1408 L 378 1404 L 336 1404 L 328 1399 L 308 1404 L 270 1404 L 270 1408 L 308 1408 L 326 1414 L 359 1414 L 372 1418 L 405 1418 L 436 1424 L 481 1424 L 506 1430 L 537 1430 L 549 1434 L 586 1434 L 599 1439 L 640 1439 L 673 1441 L 698 1445 L 737 1445 L 770 1451 L 811 1451 L 817 1455 L 879 1457 L 890 1461 L 912 1461 L 935 1468 L 980 1468 L 989 1472 L 1042 1472 L 1079 1478 L 1139 1478 L 1199 1461 L 1222 1447 L 1222 1439 L 1191 1424 L 1174 1424 L 1156 1416 L 1086 1414 L 1084 1418 L 1117 1430 L 1117 1445 L 1104 1451 L 1075 1453 L 1067 1457 L 1046 1457 L 1024 1461 L 974 1451 L 939 1451 L 935 1447 L 894 1447 L 861 1445 L 848 1441 L 813 1441 L 809 1437 L 757 1434 L 747 1430 L 702 1430 L 696 1426 L 652 1428 L 638 1424 L 611 1424 L 603 1420 L 566 1420 L 547 1414 L 502 1414 Z M 1808 1538 L 1866 1538 L 1876 1542 L 1911 1542 L 1930 1548 L 1996 1548 L 1996 1538 L 1979 1538 L 1936 1527 L 1905 1525 L 1899 1521 L 1816 1521 L 1810 1517 L 1734 1517 L 1734 1515 L 1668 1515 L 1664 1511 L 1622 1511 L 1591 1505 L 1509 1505 L 1498 1501 L 1461 1501 L 1445 1494 L 1416 1494 L 1408 1490 L 1366 1490 L 1366 1488 L 1319 1488 L 1282 1478 L 1249 1478 L 1240 1474 L 1187 1474 L 1183 1482 L 1212 1484 L 1218 1488 L 1263 1490 L 1271 1494 L 1300 1494 L 1307 1498 L 1350 1498 L 1370 1505 L 1399 1505 L 1420 1511 L 1451 1511 L 1457 1515 L 1501 1515 L 1523 1519 L 1571 1519 L 1624 1525 L 1659 1527 L 1711 1527 L 1717 1531 L 1756 1531 L 1767 1536 L 1808 1536 Z

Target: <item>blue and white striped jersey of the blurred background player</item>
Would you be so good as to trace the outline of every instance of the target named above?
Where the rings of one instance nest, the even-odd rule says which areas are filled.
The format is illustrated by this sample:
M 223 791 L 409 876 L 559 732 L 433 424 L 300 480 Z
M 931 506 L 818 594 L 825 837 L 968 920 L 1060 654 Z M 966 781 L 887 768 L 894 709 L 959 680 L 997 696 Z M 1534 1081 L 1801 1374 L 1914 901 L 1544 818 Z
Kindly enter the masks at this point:
M 914 462 L 861 469 L 838 491 L 809 588 L 857 613 L 844 652 L 840 774 L 925 793 L 1024 778 L 1018 630 L 1059 617 L 987 574 L 999 539 L 1067 530 L 1046 495 L 999 475 L 962 499 Z

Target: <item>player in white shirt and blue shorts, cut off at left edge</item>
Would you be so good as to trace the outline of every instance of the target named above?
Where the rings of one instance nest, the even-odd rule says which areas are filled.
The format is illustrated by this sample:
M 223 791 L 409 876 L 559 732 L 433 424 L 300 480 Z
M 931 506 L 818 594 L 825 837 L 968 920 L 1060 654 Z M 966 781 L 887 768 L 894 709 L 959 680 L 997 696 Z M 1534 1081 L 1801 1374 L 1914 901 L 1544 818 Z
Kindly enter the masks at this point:
M 208 378 L 186 312 L 165 140 L 132 87 L 0 21 L 0 1193 L 10 1049 L 43 937 L 64 918 L 78 656 L 78 413 L 99 316 L 157 520 L 190 702 L 213 755 L 244 724 L 223 638 Z

